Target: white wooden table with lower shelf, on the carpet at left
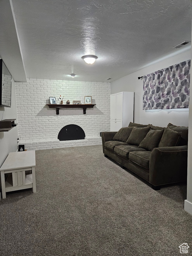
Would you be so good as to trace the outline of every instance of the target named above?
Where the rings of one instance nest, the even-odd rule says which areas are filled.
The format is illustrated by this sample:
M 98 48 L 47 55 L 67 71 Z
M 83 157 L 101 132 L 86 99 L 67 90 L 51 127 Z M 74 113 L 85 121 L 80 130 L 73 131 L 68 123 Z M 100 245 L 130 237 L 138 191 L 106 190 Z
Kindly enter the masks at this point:
M 33 188 L 36 193 L 35 181 L 35 151 L 9 153 L 0 168 L 2 198 L 6 192 Z M 5 174 L 11 173 L 5 181 Z

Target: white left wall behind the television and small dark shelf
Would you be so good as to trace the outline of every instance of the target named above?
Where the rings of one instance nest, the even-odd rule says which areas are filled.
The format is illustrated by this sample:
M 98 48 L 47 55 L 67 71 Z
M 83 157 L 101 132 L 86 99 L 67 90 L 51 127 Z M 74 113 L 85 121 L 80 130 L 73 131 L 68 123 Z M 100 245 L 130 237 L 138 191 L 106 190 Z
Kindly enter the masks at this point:
M 17 108 L 16 108 L 16 96 L 15 96 L 15 82 L 12 79 L 11 85 L 11 107 L 0 106 L 0 120 L 4 119 L 16 119 L 17 123 Z M 10 152 L 17 151 L 17 126 L 13 127 L 8 132 L 0 132 L 0 166 L 5 161 L 7 155 Z

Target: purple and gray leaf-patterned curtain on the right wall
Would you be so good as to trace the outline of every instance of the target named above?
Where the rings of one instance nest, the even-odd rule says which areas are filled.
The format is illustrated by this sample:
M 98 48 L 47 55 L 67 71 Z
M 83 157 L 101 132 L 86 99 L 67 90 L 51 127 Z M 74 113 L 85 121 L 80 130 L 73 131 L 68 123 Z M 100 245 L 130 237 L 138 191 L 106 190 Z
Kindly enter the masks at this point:
M 191 60 L 143 76 L 143 110 L 189 107 Z

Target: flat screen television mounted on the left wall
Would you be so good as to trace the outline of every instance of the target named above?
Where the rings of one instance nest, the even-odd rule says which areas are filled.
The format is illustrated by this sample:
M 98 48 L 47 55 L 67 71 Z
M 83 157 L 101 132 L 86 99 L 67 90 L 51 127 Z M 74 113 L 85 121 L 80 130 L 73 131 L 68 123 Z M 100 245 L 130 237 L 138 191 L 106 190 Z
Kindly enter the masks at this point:
M 11 74 L 0 59 L 0 106 L 11 107 Z

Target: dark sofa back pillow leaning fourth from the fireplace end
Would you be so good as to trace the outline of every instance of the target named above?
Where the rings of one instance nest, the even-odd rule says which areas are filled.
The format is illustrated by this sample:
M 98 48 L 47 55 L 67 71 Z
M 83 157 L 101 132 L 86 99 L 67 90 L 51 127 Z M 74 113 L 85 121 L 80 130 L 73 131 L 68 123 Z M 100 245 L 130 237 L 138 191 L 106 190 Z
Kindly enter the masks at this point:
M 159 142 L 159 148 L 178 146 L 180 139 L 181 132 L 175 132 L 169 128 L 165 128 L 162 138 Z

